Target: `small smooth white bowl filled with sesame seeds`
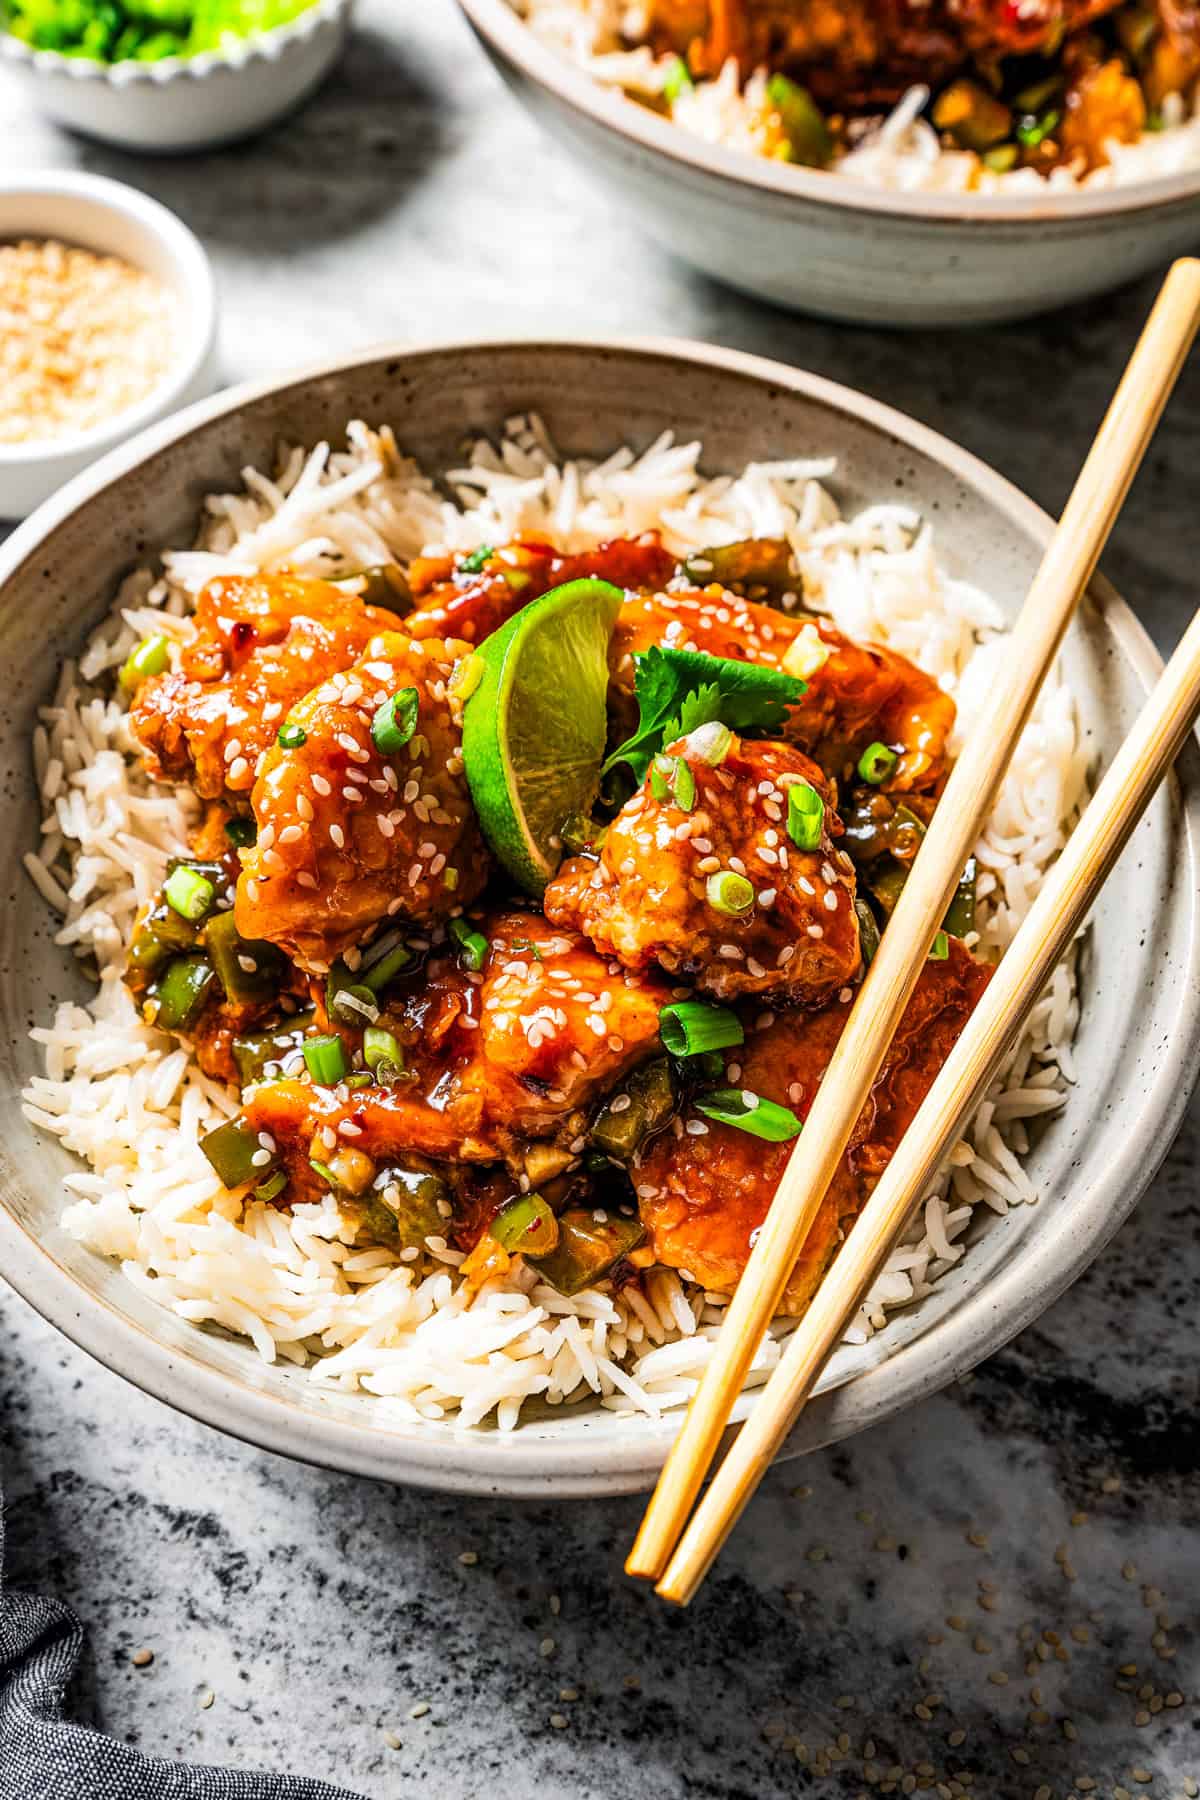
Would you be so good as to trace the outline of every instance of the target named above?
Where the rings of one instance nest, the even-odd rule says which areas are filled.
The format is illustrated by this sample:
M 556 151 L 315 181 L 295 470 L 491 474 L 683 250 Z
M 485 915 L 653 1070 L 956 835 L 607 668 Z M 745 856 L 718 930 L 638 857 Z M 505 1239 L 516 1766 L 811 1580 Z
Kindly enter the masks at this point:
M 212 387 L 216 290 L 187 227 L 95 175 L 0 180 L 0 518 Z

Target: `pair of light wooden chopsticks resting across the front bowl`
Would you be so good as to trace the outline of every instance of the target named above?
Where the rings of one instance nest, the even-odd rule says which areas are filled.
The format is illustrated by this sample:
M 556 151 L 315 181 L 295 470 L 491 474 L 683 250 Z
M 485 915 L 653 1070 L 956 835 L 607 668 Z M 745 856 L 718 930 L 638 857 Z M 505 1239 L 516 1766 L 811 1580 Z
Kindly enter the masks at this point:
M 946 1152 L 995 1078 L 1200 713 L 1200 614 L 1187 628 L 1004 961 L 858 1215 L 703 1501 L 754 1352 L 869 1098 L 959 875 L 991 810 L 1016 740 L 1121 511 L 1200 326 L 1200 261 L 1173 265 L 1029 589 L 1007 659 L 912 864 L 909 880 L 820 1082 L 721 1334 L 626 1562 L 680 1606 L 795 1424 L 871 1282 Z M 691 1516 L 691 1523 L 689 1521 Z

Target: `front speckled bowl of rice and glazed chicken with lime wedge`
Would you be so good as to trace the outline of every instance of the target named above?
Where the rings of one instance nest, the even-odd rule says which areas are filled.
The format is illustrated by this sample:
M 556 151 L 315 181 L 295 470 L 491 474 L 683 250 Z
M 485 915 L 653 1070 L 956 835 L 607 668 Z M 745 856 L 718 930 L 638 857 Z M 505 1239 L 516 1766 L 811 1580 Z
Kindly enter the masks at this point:
M 290 1454 L 648 1485 L 1047 533 L 676 344 L 376 355 L 108 457 L 0 563 L 4 1273 Z M 1155 670 L 1097 581 L 756 1379 Z M 1189 747 L 793 1449 L 1128 1215 L 1196 1067 L 1198 821 Z

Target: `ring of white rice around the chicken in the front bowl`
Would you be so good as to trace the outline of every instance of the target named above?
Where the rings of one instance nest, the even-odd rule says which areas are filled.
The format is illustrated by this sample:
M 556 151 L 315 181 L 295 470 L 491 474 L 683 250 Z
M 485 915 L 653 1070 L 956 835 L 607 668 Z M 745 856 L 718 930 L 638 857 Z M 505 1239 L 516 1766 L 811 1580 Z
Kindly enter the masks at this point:
M 81 1159 L 65 1179 L 67 1229 L 119 1258 L 139 1289 L 180 1318 L 243 1334 L 266 1361 L 304 1364 L 326 1388 L 365 1390 L 403 1417 L 457 1426 L 495 1415 L 511 1429 L 531 1395 L 549 1404 L 596 1395 L 615 1411 L 657 1417 L 694 1391 L 725 1300 L 669 1271 L 619 1294 L 565 1300 L 518 1267 L 470 1300 L 455 1251 L 405 1260 L 356 1246 L 333 1199 L 279 1211 L 225 1193 L 198 1136 L 237 1102 L 142 1024 L 121 979 L 135 914 L 167 857 L 185 848 L 194 803 L 142 774 L 112 698 L 112 670 L 148 626 L 187 634 L 191 596 L 219 571 L 331 574 L 518 533 L 581 549 L 658 527 L 676 553 L 786 535 L 806 607 L 905 652 L 955 695 L 970 724 L 1004 653 L 1000 614 L 941 567 L 914 508 L 882 504 L 842 518 L 822 486 L 835 470 L 829 459 L 707 479 L 700 455 L 698 443 L 664 434 L 642 455 L 626 448 L 601 464 L 560 463 L 542 423 L 516 418 L 498 446 L 477 443 L 450 472 L 446 499 L 389 430 L 351 425 L 345 450 L 286 450 L 272 477 L 246 470 L 241 493 L 210 497 L 198 545 L 166 553 L 160 576 L 131 576 L 79 664 L 63 668 L 32 747 L 45 819 L 41 846 L 25 862 L 61 913 L 58 941 L 95 959 L 99 990 L 34 1031 L 45 1075 L 29 1084 L 25 1112 Z M 986 954 L 1011 941 L 1083 790 L 1072 698 L 1051 680 L 979 844 Z M 1063 1100 L 1076 1017 L 1070 959 L 876 1282 L 851 1343 L 959 1262 L 975 1206 L 1004 1213 L 1036 1199 L 1018 1161 L 1025 1121 Z M 759 1350 L 752 1382 L 777 1361 L 784 1332 L 781 1321 Z

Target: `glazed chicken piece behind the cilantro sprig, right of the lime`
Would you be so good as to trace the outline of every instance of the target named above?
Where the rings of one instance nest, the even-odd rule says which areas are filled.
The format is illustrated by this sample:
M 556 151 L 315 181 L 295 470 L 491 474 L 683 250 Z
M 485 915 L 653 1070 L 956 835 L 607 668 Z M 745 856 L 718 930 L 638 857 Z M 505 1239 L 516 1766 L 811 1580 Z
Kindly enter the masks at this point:
M 786 736 L 837 781 L 853 776 L 874 740 L 900 752 L 883 783 L 891 790 L 937 788 L 946 774 L 950 695 L 907 657 L 851 643 L 826 619 L 775 612 L 721 587 L 628 599 L 610 652 L 619 724 L 633 704 L 633 657 L 651 644 L 801 675 L 808 691 L 790 711 Z

